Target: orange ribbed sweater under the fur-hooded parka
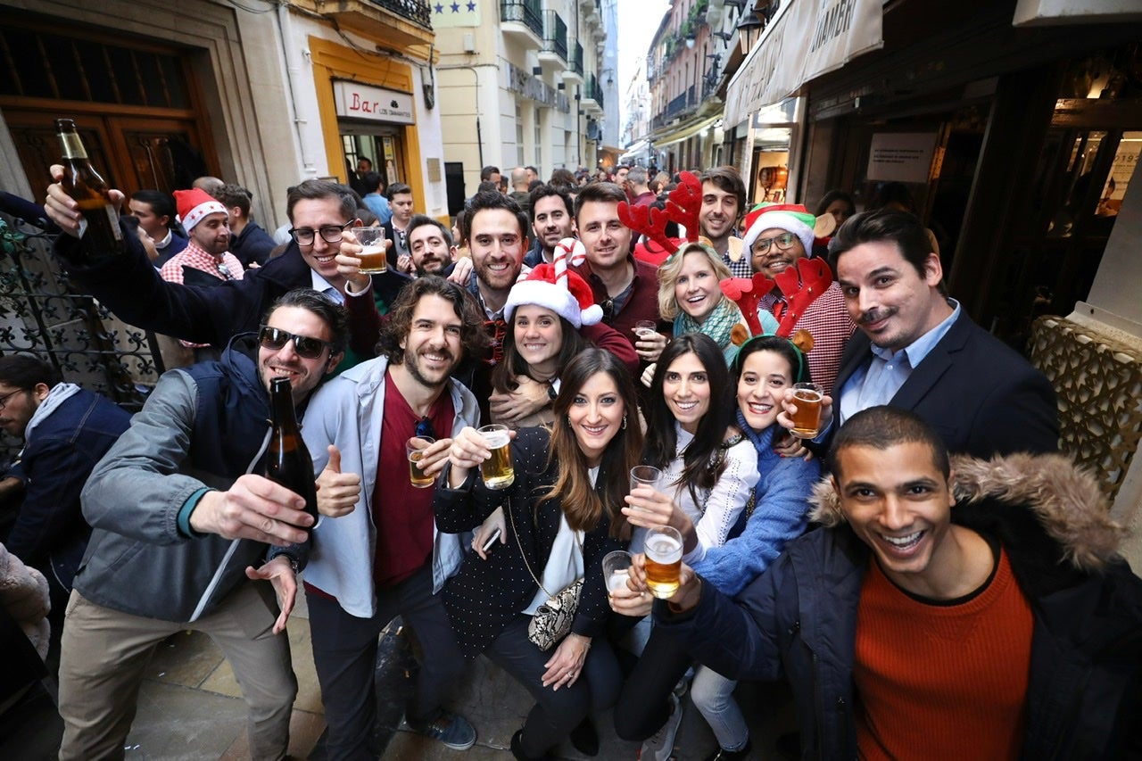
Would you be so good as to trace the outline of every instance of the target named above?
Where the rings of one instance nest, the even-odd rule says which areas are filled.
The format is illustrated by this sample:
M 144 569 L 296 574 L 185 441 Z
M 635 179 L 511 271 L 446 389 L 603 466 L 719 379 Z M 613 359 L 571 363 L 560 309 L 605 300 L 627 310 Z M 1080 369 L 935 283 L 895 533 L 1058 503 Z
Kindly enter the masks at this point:
M 1018 759 L 1031 609 L 1006 553 L 963 602 L 909 596 L 875 559 L 861 587 L 853 678 L 862 759 Z

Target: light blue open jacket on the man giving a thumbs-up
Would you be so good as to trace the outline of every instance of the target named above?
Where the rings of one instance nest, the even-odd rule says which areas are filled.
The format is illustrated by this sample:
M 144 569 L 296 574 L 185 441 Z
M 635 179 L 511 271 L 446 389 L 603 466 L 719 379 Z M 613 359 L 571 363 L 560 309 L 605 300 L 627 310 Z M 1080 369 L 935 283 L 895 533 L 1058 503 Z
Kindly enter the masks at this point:
M 388 360 L 378 357 L 329 380 L 314 394 L 301 425 L 301 438 L 313 457 L 314 473 L 324 470 L 328 447 L 335 444 L 341 452 L 341 472 L 361 474 L 361 497 L 353 512 L 340 518 L 322 518 L 314 529 L 305 580 L 337 598 L 346 612 L 361 618 L 372 617 L 377 610 L 372 582 L 377 547 L 372 490 L 378 478 L 387 368 Z M 466 425 L 478 425 L 480 409 L 472 392 L 450 380 L 449 393 L 456 410 L 452 435 Z M 408 478 L 408 467 L 401 467 L 399 473 L 386 473 L 385 478 Z M 460 568 L 467 545 L 465 535 L 435 532 L 434 593 L 440 592 L 448 577 Z

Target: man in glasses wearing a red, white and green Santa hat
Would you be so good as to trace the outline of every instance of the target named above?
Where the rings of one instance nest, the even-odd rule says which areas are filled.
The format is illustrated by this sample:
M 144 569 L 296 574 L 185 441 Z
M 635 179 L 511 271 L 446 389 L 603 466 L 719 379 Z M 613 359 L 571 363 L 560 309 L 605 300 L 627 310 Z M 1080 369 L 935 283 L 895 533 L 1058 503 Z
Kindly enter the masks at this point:
M 750 251 L 754 272 L 773 278 L 812 256 L 814 221 L 813 215 L 799 203 L 762 203 L 754 207 L 746 215 L 746 234 L 742 238 L 742 243 Z M 772 312 L 779 321 L 786 309 L 786 294 L 777 286 L 757 305 L 758 312 Z M 794 331 L 807 330 L 813 336 L 813 350 L 805 354 L 805 360 L 813 383 L 823 386 L 825 393 L 831 393 L 837 368 L 841 367 L 841 354 L 855 328 L 836 282 L 804 307 L 794 323 Z

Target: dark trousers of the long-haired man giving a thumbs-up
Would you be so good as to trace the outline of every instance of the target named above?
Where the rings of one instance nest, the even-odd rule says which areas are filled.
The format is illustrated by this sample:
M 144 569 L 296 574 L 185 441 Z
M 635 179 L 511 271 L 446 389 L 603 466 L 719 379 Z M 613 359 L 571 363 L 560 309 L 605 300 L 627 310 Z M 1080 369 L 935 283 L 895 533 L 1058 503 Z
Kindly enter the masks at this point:
M 411 626 L 424 648 L 424 662 L 405 708 L 410 724 L 434 721 L 448 690 L 464 673 L 464 656 L 440 598 L 432 593 L 432 564 L 409 578 L 377 590 L 377 612 L 357 618 L 337 602 L 308 596 L 313 662 L 329 726 L 330 759 L 376 759 L 368 744 L 377 718 L 375 679 L 380 632 L 396 616 Z

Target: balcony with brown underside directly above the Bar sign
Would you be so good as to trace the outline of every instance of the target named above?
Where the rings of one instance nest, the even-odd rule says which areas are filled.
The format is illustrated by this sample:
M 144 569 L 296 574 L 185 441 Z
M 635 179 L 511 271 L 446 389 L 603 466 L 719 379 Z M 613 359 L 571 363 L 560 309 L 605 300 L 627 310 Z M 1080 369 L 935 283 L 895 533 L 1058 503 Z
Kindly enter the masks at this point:
M 426 55 L 436 39 L 428 0 L 289 0 L 289 5 L 417 57 Z

